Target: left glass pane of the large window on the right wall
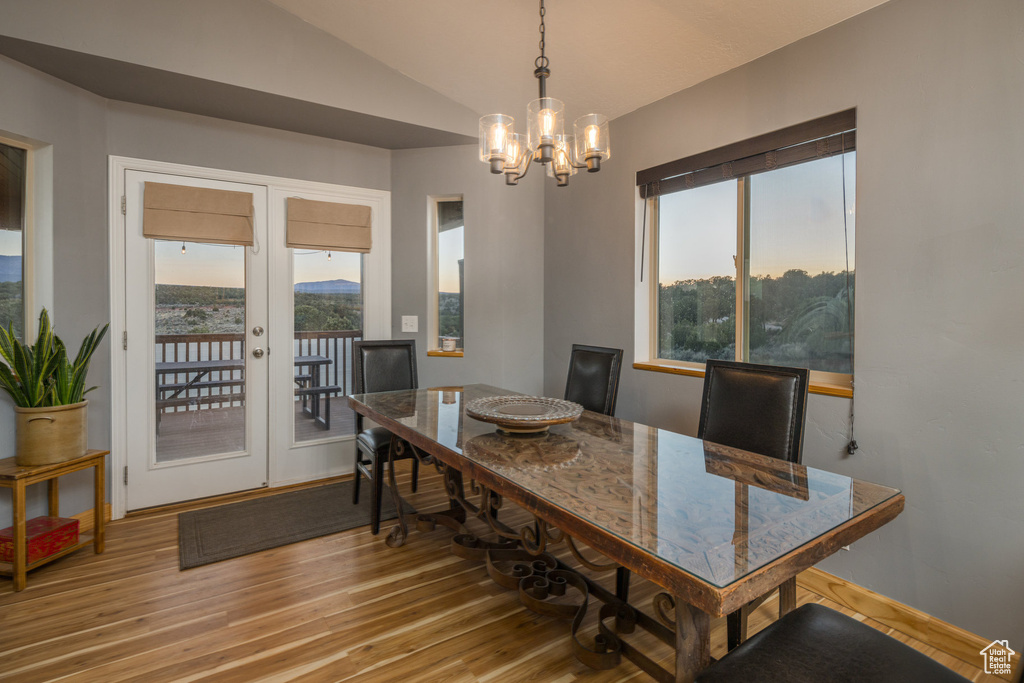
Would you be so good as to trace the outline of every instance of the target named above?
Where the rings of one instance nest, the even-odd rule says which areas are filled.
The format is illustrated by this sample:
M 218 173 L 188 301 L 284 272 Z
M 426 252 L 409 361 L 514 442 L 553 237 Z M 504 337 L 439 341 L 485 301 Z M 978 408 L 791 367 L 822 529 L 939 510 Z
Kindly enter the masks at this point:
M 736 181 L 658 198 L 657 356 L 735 355 Z

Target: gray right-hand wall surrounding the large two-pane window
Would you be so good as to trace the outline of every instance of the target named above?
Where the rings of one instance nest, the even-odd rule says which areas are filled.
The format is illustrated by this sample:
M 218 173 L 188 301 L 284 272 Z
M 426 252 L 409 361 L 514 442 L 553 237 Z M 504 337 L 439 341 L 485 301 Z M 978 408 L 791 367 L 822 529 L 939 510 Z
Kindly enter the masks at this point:
M 804 462 L 906 510 L 822 568 L 986 638 L 1024 633 L 1024 4 L 895 0 L 611 124 L 546 190 L 545 389 L 569 345 L 633 354 L 634 173 L 857 108 L 856 435 L 814 395 Z M 698 379 L 629 367 L 618 415 L 693 434 Z M 1019 648 L 1018 648 L 1019 649 Z

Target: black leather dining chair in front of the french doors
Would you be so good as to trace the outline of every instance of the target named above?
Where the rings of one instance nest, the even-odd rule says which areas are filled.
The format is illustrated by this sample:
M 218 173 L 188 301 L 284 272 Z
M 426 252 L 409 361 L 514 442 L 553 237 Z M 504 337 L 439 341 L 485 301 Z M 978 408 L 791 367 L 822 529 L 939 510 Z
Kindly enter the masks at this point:
M 416 373 L 416 340 L 395 339 L 358 341 L 352 344 L 352 373 L 355 393 L 398 391 L 418 388 Z M 362 416 L 355 415 L 355 468 L 353 471 L 352 504 L 359 502 L 359 477 L 371 484 L 370 530 L 380 531 L 381 493 L 384 486 L 384 462 L 394 436 L 384 427 L 362 429 Z M 420 463 L 407 449 L 402 458 L 413 459 L 413 493 L 416 493 Z

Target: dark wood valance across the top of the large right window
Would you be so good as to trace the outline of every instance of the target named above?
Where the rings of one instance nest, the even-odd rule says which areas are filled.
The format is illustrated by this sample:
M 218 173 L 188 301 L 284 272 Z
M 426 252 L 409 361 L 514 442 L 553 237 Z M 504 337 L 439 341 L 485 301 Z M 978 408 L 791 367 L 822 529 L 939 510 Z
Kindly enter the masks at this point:
M 857 111 L 758 135 L 637 173 L 640 197 L 657 197 L 857 148 Z

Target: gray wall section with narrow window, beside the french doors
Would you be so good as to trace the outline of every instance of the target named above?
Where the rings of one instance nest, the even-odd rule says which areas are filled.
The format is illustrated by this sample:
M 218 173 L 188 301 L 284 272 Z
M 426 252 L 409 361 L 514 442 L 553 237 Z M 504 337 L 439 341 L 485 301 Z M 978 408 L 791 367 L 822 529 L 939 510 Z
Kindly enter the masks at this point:
M 508 187 L 476 155 L 475 146 L 392 153 L 392 330 L 395 338 L 416 339 L 420 386 L 482 382 L 537 393 L 544 377 L 543 178 L 535 169 Z M 442 195 L 465 202 L 462 358 L 426 355 L 427 198 Z M 419 333 L 401 333 L 402 315 L 419 315 Z

